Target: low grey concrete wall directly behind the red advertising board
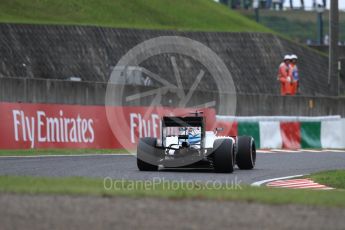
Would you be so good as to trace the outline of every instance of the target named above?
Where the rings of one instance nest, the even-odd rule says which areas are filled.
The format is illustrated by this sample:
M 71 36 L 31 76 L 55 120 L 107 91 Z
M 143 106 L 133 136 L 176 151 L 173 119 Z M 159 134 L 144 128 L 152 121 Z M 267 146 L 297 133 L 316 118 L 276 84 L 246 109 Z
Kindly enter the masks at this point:
M 144 92 L 148 87 L 127 86 L 131 93 Z M 70 82 L 61 80 L 45 79 L 20 79 L 0 78 L 0 101 L 7 102 L 29 102 L 29 103 L 57 103 L 57 104 L 84 104 L 104 105 L 105 83 L 96 82 Z M 201 100 L 216 100 L 219 97 L 233 98 L 233 95 L 219 95 L 212 91 L 197 91 L 192 99 L 196 105 Z M 345 97 L 310 97 L 294 96 L 281 97 L 278 95 L 262 94 L 237 94 L 238 116 L 345 116 Z M 193 101 L 194 100 L 194 101 Z M 149 105 L 151 100 L 143 99 L 136 104 L 127 105 Z M 162 100 L 163 105 L 169 105 L 166 99 Z M 219 114 L 228 115 L 229 104 L 217 104 Z

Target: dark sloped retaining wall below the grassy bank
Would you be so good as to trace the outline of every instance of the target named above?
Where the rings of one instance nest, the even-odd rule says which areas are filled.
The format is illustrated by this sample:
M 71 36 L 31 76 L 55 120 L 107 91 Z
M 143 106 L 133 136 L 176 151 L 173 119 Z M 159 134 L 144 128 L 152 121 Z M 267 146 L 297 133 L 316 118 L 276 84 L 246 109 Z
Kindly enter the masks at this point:
M 75 76 L 83 81 L 106 82 L 112 68 L 130 48 L 162 35 L 189 37 L 210 47 L 226 64 L 239 93 L 279 94 L 277 68 L 286 53 L 299 56 L 302 95 L 333 93 L 327 87 L 327 57 L 275 35 L 262 33 L 0 24 L 0 77 L 66 79 Z M 184 57 L 178 58 L 184 63 Z M 169 61 L 169 57 L 164 56 L 143 65 L 171 80 L 173 71 Z M 184 72 L 184 79 L 195 76 L 196 68 Z M 204 89 L 212 90 L 209 85 L 206 81 Z M 52 101 L 51 98 L 46 100 Z

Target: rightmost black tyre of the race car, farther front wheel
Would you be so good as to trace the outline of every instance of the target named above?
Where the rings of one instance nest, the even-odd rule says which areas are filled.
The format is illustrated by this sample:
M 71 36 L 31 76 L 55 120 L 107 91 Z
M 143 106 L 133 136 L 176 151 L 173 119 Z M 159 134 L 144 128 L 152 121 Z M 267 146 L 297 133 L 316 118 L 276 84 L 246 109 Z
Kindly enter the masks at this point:
M 237 137 L 236 164 L 239 169 L 253 169 L 256 161 L 256 148 L 253 137 Z

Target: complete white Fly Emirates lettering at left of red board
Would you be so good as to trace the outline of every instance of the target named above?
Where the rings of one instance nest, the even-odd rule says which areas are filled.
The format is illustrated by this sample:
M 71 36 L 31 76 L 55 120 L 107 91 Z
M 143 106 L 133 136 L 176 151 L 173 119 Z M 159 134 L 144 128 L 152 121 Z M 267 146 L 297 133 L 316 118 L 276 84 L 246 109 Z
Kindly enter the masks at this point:
M 22 110 L 12 110 L 14 138 L 18 141 L 30 141 L 31 148 L 36 143 L 93 143 L 95 133 L 92 119 L 65 117 L 59 111 L 57 117 L 49 117 L 44 111 L 37 111 L 36 116 L 27 116 Z

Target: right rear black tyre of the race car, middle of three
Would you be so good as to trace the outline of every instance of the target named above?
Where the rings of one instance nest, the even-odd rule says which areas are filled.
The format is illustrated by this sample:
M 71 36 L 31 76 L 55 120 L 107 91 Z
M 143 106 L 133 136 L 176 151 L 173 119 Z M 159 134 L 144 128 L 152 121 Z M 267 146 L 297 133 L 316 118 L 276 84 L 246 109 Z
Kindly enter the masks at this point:
M 213 142 L 213 166 L 217 173 L 234 171 L 234 143 L 231 139 L 217 139 Z

